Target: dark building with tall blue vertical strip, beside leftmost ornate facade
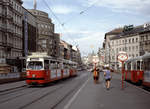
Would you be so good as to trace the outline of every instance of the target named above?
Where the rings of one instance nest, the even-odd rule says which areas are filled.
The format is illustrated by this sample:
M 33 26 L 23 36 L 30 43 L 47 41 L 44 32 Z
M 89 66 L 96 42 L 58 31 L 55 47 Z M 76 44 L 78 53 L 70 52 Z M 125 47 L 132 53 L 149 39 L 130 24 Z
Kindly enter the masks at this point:
M 23 56 L 37 51 L 37 22 L 36 17 L 27 9 L 23 8 Z

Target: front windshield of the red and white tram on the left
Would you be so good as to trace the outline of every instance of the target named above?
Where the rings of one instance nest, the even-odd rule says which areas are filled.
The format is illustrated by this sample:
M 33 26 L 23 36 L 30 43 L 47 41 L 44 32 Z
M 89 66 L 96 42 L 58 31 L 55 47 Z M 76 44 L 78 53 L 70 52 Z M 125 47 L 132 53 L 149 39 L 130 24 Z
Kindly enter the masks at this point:
M 41 69 L 43 69 L 43 64 L 42 64 L 42 62 L 39 62 L 39 61 L 29 62 L 28 66 L 27 66 L 27 69 L 41 70 Z

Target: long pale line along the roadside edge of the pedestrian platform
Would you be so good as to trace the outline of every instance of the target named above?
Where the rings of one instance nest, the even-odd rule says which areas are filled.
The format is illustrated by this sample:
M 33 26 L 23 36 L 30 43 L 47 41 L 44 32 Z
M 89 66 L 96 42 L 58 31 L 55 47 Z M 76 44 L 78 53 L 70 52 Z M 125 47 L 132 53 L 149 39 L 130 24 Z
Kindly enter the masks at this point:
M 87 82 L 89 81 L 90 78 L 88 78 L 88 80 L 85 81 L 85 83 L 80 87 L 80 89 L 75 93 L 75 95 L 72 97 L 72 99 L 65 105 L 64 109 L 69 109 L 70 105 L 72 104 L 72 102 L 76 99 L 76 97 L 78 96 L 78 94 L 80 93 L 80 91 L 85 87 L 85 85 L 87 84 Z

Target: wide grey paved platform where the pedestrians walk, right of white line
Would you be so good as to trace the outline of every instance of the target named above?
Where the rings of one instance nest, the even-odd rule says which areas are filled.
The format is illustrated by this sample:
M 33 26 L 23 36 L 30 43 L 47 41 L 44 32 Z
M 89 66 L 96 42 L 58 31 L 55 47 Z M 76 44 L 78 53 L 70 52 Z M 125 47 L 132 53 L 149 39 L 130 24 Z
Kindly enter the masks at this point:
M 149 109 L 150 92 L 125 82 L 121 89 L 121 75 L 113 74 L 110 90 L 106 90 L 102 76 L 94 84 L 92 76 L 72 97 L 64 109 Z

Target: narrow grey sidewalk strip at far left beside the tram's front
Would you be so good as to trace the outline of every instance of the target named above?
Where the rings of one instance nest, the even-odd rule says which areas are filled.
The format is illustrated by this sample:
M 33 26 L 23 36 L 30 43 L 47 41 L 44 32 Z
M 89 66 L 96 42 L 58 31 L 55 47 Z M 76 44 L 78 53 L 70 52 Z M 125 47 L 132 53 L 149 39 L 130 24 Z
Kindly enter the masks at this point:
M 0 84 L 0 92 L 7 91 L 7 90 L 10 90 L 10 89 L 15 89 L 15 88 L 18 88 L 18 87 L 23 87 L 25 85 L 26 85 L 25 81 L 18 81 L 18 82 Z

